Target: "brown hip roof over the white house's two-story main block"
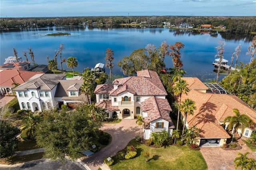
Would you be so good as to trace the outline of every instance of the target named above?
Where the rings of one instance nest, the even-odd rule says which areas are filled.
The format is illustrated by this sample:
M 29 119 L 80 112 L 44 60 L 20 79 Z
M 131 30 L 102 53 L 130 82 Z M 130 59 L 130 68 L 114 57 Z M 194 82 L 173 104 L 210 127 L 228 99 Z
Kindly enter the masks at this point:
M 51 90 L 56 85 L 58 85 L 59 81 L 66 77 L 65 74 L 42 74 L 40 76 L 34 76 L 28 81 L 22 83 L 14 90 L 27 90 L 28 87 L 31 87 L 32 84 L 38 83 L 40 85 L 40 90 Z

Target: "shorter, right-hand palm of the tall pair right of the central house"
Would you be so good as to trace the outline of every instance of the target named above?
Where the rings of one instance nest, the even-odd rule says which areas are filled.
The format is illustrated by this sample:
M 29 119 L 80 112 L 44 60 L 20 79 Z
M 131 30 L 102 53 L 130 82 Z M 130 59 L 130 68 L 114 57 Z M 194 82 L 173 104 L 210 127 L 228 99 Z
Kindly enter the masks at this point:
M 196 107 L 194 105 L 195 102 L 191 99 L 185 99 L 185 101 L 182 101 L 182 105 L 180 105 L 180 111 L 184 113 L 184 125 L 182 129 L 182 136 L 184 134 L 184 129 L 186 127 L 187 116 L 194 115 L 194 110 L 196 110 Z

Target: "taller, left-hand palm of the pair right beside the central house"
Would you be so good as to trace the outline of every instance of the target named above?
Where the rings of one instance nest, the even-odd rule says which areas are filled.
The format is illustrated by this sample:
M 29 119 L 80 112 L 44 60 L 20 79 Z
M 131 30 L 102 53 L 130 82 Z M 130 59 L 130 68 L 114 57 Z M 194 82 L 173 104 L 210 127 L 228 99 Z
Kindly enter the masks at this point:
M 185 80 L 179 79 L 178 83 L 176 83 L 176 85 L 174 86 L 174 94 L 178 95 L 179 97 L 179 107 L 178 107 L 178 119 L 177 119 L 177 127 L 176 130 L 178 130 L 178 126 L 179 126 L 179 120 L 180 120 L 180 103 L 181 103 L 181 96 L 182 94 L 186 94 L 189 91 L 188 87 L 187 87 L 188 83 Z

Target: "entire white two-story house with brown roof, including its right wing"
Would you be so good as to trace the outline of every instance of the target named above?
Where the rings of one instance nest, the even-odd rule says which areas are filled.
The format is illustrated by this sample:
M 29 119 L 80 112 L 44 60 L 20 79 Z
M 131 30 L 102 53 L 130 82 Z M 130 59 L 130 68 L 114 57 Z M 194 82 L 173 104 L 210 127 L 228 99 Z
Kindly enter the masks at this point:
M 35 75 L 22 83 L 16 91 L 20 109 L 43 111 L 66 104 L 74 108 L 80 102 L 82 80 L 66 80 L 65 74 Z

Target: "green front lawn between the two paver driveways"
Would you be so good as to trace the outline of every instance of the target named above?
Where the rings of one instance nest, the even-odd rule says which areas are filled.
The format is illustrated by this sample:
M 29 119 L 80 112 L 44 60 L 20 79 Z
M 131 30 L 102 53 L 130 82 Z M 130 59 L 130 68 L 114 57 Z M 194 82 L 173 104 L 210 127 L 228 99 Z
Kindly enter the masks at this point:
M 130 160 L 117 160 L 113 157 L 114 164 L 111 170 L 149 170 L 149 169 L 181 169 L 181 170 L 206 170 L 207 164 L 198 150 L 190 150 L 187 146 L 166 146 L 151 148 L 137 142 L 135 139 L 128 143 L 137 148 L 137 156 Z M 150 160 L 145 163 L 144 152 L 150 153 Z

